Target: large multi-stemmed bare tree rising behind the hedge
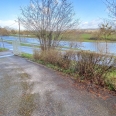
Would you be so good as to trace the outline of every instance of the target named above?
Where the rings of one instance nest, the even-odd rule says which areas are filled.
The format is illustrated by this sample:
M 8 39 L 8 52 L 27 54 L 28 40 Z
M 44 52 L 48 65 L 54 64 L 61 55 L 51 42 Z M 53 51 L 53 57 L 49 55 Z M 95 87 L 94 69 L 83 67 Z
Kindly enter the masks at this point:
M 20 21 L 34 32 L 42 50 L 59 45 L 64 31 L 78 25 L 74 20 L 72 4 L 67 0 L 30 0 L 30 5 L 21 8 Z

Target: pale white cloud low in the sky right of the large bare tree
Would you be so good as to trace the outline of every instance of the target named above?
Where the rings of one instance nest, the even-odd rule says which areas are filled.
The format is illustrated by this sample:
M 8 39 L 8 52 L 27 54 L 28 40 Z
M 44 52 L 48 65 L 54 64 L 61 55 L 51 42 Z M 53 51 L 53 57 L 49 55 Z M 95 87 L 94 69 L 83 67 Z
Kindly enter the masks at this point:
M 98 25 L 102 22 L 101 19 L 95 19 L 92 21 L 85 21 L 80 24 L 81 29 L 95 29 L 98 28 Z

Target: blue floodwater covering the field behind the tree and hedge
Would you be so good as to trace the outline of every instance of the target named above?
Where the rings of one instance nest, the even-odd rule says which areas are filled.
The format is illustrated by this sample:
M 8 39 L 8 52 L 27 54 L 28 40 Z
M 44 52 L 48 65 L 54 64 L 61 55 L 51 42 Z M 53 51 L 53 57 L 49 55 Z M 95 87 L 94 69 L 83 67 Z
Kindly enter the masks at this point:
M 17 37 L 14 36 L 4 36 L 3 40 L 7 40 L 7 41 L 13 41 L 18 39 Z M 21 37 L 21 42 L 23 43 L 29 43 L 29 44 L 34 44 L 34 45 L 39 45 L 39 41 L 38 39 L 35 38 L 25 38 L 25 37 Z M 4 43 L 5 47 L 12 50 L 12 46 L 8 43 Z M 60 46 L 64 47 L 63 50 L 67 50 L 67 47 L 70 48 L 71 45 L 77 45 L 79 49 L 81 50 L 90 50 L 90 51 L 94 51 L 94 52 L 100 52 L 100 53 L 110 53 L 110 54 L 114 54 L 116 55 L 116 42 L 107 42 L 107 46 L 106 46 L 106 42 L 77 42 L 77 41 L 60 41 Z M 0 46 L 2 45 L 2 42 L 0 43 Z M 74 47 L 74 46 L 73 46 Z M 22 52 L 26 52 L 26 53 L 33 53 L 33 49 L 30 47 L 22 47 L 21 48 Z

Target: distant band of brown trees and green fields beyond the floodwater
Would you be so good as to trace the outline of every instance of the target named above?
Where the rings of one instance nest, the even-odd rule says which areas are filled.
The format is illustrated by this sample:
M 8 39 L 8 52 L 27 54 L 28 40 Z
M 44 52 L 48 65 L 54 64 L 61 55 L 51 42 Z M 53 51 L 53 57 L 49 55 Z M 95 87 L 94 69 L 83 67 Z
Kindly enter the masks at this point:
M 55 32 L 54 32 L 55 34 Z M 8 29 L 0 27 L 0 36 L 18 36 L 19 31 L 15 29 Z M 35 33 L 28 30 L 21 30 L 21 36 L 25 37 L 35 37 Z M 99 30 L 67 30 L 62 32 L 62 40 L 68 41 L 96 41 L 96 40 L 108 40 L 116 41 L 116 33 L 109 35 L 107 38 L 103 38 L 103 34 L 99 33 Z

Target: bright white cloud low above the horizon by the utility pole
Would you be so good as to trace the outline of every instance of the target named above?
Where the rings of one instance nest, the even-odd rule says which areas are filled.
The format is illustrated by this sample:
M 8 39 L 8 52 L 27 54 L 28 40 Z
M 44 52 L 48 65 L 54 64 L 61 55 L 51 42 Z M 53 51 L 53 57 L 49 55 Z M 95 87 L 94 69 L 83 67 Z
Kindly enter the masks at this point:
M 0 27 L 8 27 L 11 29 L 17 29 L 18 30 L 18 22 L 16 20 L 0 20 Z M 24 30 L 24 27 L 21 26 L 21 30 Z

